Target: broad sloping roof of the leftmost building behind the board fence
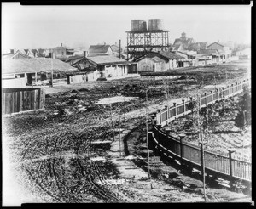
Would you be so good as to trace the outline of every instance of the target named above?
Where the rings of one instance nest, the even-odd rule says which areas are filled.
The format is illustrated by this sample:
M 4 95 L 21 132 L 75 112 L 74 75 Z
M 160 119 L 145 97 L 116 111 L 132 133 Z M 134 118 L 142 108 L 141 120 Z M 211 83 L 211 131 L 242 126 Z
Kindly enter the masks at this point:
M 50 72 L 51 61 L 53 62 L 53 70 L 56 71 L 73 71 L 76 68 L 59 59 L 34 58 L 34 59 L 4 59 L 2 62 L 2 73 L 33 73 L 33 72 Z

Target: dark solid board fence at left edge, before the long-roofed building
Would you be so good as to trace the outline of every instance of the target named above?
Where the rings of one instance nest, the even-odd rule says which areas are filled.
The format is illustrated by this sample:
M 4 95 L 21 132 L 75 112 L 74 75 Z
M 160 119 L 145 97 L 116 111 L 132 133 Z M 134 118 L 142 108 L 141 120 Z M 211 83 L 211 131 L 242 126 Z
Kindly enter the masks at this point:
M 2 115 L 43 109 L 44 88 L 2 88 Z

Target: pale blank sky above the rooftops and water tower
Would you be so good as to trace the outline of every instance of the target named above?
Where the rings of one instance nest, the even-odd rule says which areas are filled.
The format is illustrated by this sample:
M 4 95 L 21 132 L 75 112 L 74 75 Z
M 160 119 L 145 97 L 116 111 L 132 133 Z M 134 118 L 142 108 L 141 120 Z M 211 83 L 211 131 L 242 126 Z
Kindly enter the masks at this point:
M 2 3 L 2 47 L 50 48 L 122 41 L 131 20 L 162 19 L 171 43 L 186 32 L 195 42 L 250 43 L 250 5 L 20 6 Z

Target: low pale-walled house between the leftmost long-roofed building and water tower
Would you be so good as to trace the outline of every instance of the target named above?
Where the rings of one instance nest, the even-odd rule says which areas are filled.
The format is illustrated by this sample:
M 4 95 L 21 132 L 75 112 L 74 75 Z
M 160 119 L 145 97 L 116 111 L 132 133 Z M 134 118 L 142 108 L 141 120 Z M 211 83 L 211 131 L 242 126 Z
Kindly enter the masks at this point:
M 100 77 L 124 76 L 128 74 L 128 65 L 125 59 L 119 59 L 111 55 L 86 57 L 76 55 L 66 60 L 70 65 L 85 72 L 86 81 L 96 81 Z M 73 75 L 70 74 L 71 77 Z

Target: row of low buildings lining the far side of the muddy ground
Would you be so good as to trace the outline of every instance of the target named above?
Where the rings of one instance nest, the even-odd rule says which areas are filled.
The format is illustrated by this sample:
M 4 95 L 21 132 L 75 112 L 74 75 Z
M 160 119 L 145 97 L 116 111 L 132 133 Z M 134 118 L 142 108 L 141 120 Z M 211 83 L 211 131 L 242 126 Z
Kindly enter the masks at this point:
M 250 49 L 237 52 L 250 58 Z M 12 49 L 3 54 L 2 81 L 5 87 L 48 85 L 54 82 L 87 82 L 99 78 L 140 74 L 188 66 L 212 65 L 231 61 L 232 46 L 220 42 L 194 42 L 185 33 L 166 51 L 150 51 L 128 59 L 125 50 L 113 45 L 91 45 L 77 50 L 66 46 L 38 49 Z

